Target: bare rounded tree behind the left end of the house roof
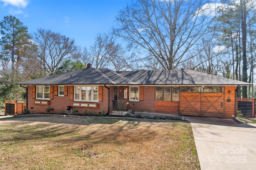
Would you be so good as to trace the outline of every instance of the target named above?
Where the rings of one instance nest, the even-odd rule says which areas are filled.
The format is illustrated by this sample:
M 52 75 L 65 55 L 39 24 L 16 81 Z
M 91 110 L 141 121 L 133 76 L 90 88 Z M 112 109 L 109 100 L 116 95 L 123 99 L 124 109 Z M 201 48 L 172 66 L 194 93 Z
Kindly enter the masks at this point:
M 34 45 L 36 57 L 47 75 L 55 74 L 66 59 L 78 57 L 74 40 L 51 30 L 38 29 L 34 34 Z

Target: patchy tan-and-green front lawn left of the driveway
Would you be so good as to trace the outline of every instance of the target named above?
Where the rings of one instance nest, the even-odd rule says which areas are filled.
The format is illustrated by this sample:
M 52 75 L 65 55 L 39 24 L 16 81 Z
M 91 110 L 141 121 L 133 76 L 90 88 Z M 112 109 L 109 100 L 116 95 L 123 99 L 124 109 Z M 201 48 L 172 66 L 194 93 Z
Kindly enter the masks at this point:
M 1 169 L 200 169 L 190 123 L 111 117 L 0 119 Z

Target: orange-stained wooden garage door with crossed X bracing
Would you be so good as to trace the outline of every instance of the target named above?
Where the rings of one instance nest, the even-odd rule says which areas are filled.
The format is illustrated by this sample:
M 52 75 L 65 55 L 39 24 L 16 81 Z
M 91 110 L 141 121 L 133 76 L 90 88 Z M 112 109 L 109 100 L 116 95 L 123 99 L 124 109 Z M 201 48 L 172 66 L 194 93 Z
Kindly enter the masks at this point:
M 180 115 L 224 117 L 224 93 L 181 92 Z

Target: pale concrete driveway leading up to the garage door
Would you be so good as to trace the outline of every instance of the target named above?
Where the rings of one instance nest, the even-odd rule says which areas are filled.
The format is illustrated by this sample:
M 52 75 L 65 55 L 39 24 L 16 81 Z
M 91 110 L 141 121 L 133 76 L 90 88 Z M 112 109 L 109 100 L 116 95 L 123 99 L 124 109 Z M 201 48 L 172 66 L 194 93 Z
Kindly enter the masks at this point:
M 256 124 L 184 117 L 191 122 L 202 170 L 256 170 Z

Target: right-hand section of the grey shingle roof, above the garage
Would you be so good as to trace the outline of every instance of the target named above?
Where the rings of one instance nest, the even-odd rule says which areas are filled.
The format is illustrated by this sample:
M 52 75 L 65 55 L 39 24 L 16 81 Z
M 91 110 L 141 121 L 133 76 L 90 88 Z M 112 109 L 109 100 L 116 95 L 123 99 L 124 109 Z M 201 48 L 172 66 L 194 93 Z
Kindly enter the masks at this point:
M 214 76 L 193 70 L 140 70 L 119 72 L 137 84 L 147 85 L 240 85 L 250 86 L 250 83 Z

